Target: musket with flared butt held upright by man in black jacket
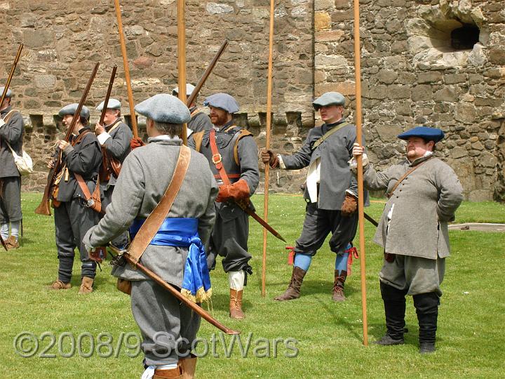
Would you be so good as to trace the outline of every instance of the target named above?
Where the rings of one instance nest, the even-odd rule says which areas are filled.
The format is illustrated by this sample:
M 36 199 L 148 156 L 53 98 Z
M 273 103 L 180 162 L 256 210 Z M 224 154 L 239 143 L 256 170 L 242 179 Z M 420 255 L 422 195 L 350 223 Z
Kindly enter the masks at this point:
M 93 72 L 91 74 L 90 79 L 88 80 L 88 84 L 86 85 L 86 89 L 84 90 L 84 92 L 81 96 L 81 100 L 79 101 L 79 105 L 77 106 L 77 109 L 74 113 L 74 117 L 72 118 L 72 123 L 70 124 L 70 126 L 67 130 L 67 133 L 65 134 L 65 141 L 66 142 L 69 142 L 70 136 L 72 135 L 72 132 L 74 131 L 74 127 L 77 123 L 77 120 L 79 119 L 79 117 L 81 115 L 81 109 L 84 105 L 84 102 L 86 101 L 86 97 L 88 96 L 88 93 L 90 91 L 91 84 L 93 84 L 93 80 L 95 80 L 95 76 L 98 71 L 99 65 L 100 65 L 100 63 L 97 62 L 95 64 L 95 68 L 93 68 Z M 55 182 L 56 176 L 60 172 L 61 163 L 62 163 L 61 152 L 58 151 L 58 148 L 56 151 L 58 152 L 56 154 L 57 158 L 56 158 L 53 168 L 50 168 L 50 170 L 49 170 L 48 180 L 46 183 L 46 187 L 44 188 L 44 193 L 43 193 L 41 204 L 39 204 L 39 206 L 35 209 L 35 213 L 37 213 L 39 215 L 51 215 L 50 207 L 49 207 L 50 194 L 53 191 L 54 182 Z

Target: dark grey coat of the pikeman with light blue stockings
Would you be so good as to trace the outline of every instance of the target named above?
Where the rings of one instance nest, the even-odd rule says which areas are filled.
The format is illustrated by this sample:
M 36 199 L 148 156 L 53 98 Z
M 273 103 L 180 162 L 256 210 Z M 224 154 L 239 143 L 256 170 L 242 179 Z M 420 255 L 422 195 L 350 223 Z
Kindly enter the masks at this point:
M 344 121 L 342 119 L 332 127 L 338 127 Z M 314 143 L 328 130 L 326 124 L 311 128 L 304 145 L 295 154 L 281 155 L 281 158 L 287 170 L 299 170 L 308 167 L 321 157 L 318 208 L 339 211 L 342 208 L 347 189 L 354 194 L 358 193 L 358 182 L 349 172 L 349 164 L 347 163 L 352 157 L 353 145 L 356 142 L 356 126 L 351 124 L 344 126 L 316 149 L 312 149 Z M 365 138 L 363 137 L 364 144 Z M 309 199 L 307 189 L 305 189 L 304 197 Z M 365 204 L 368 204 L 368 194 L 365 194 Z

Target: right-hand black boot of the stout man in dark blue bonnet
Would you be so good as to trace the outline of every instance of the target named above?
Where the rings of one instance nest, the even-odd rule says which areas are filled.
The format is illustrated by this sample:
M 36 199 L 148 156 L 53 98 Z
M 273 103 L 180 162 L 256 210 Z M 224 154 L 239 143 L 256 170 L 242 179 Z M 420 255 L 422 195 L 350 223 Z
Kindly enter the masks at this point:
M 419 352 L 435 351 L 436 325 L 440 298 L 434 292 L 414 295 L 414 306 L 419 321 Z

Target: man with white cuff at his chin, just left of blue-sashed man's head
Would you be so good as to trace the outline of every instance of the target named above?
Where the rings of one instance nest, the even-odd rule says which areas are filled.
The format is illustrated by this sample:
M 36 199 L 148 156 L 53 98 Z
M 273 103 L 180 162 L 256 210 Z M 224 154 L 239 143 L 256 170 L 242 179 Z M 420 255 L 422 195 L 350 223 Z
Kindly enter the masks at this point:
M 104 102 L 96 107 L 103 112 Z M 112 192 L 121 171 L 121 165 L 130 153 L 132 131 L 121 119 L 121 102 L 109 98 L 105 109 L 104 125 L 95 125 L 95 134 L 102 147 L 102 167 L 100 168 L 100 190 L 102 192 L 102 209 L 107 211 L 112 199 Z M 114 246 L 124 248 L 128 244 L 128 234 L 125 232 L 113 241 Z

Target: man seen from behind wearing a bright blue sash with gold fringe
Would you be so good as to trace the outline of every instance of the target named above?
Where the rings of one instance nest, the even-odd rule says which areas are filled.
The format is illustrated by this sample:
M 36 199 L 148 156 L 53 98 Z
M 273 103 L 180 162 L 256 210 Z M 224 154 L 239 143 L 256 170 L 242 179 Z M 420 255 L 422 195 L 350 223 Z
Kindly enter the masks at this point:
M 140 102 L 135 111 L 147 118 L 148 143 L 126 157 L 107 213 L 88 231 L 84 243 L 89 250 L 105 246 L 128 228 L 133 243 L 142 237 L 141 227 L 165 199 L 178 157 L 184 152 L 189 162 L 187 172 L 180 178 L 180 189 L 170 211 L 140 262 L 161 279 L 181 288 L 189 299 L 201 302 L 210 297 L 211 291 L 203 246 L 208 246 L 215 220 L 217 183 L 205 157 L 191 152 L 179 138 L 182 124 L 190 119 L 183 102 L 168 94 L 154 95 Z M 202 264 L 195 271 L 189 261 L 198 258 Z M 182 374 L 192 378 L 185 371 L 196 364 L 190 352 L 200 317 L 129 264 L 114 266 L 112 274 L 131 283 L 131 307 L 142 333 L 145 355 L 143 378 L 182 378 Z M 203 286 L 194 286 L 196 281 L 203 282 Z

